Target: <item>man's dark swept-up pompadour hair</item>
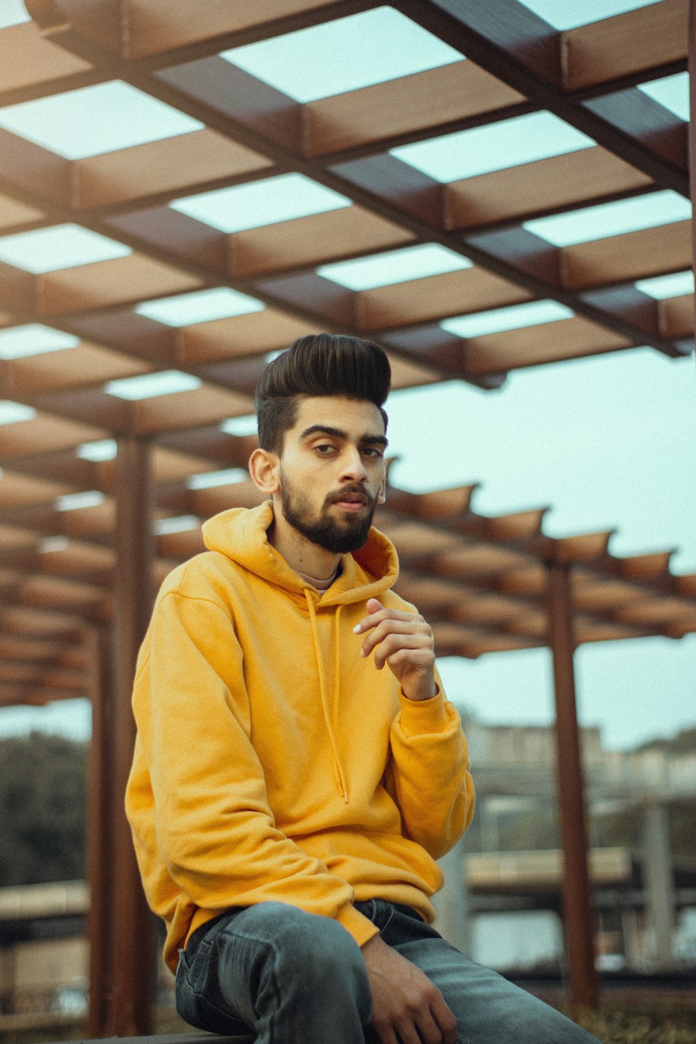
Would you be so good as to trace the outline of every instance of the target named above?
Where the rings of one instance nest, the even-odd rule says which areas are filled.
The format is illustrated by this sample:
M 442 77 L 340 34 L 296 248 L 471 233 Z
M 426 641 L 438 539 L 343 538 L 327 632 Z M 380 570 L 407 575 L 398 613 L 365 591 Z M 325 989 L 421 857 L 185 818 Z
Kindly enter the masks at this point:
M 347 334 L 299 337 L 269 362 L 256 389 L 259 444 L 281 453 L 285 432 L 295 423 L 303 396 L 364 399 L 382 409 L 389 394 L 391 369 L 378 345 Z

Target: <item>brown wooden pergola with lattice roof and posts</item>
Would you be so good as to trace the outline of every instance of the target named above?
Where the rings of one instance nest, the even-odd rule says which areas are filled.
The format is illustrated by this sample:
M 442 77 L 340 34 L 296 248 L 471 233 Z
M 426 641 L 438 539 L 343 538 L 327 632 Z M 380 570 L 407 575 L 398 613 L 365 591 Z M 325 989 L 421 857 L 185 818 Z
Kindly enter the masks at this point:
M 397 388 L 454 378 L 493 389 L 515 369 L 642 346 L 669 365 L 693 351 L 693 293 L 637 286 L 691 268 L 691 220 L 560 246 L 527 227 L 666 191 L 689 197 L 690 124 L 641 90 L 696 61 L 687 0 L 563 31 L 518 0 L 394 0 L 455 57 L 308 101 L 235 64 L 244 45 L 379 6 L 26 0 L 31 20 L 0 28 L 0 256 L 11 237 L 64 226 L 118 247 L 41 270 L 0 262 L 0 398 L 18 418 L 0 425 L 0 703 L 92 701 L 93 1037 L 147 1031 L 151 1006 L 152 924 L 122 813 L 137 648 L 157 584 L 201 548 L 197 520 L 257 502 L 248 481 L 200 476 L 245 467 L 255 438 L 234 420 L 253 411 L 268 353 L 306 332 L 351 332 L 386 349 Z M 114 82 L 191 129 L 71 158 L 3 122 L 13 112 L 21 124 L 28 110 L 16 106 Z M 454 181 L 401 150 L 538 112 L 587 147 Z M 107 116 L 96 106 L 92 118 Z M 288 174 L 340 206 L 237 231 L 192 216 L 202 193 Z M 461 264 L 363 288 L 323 269 L 428 244 Z M 147 307 L 218 288 L 254 304 L 183 323 Z M 534 302 L 566 317 L 453 332 L 454 318 Z M 33 349 L 3 354 L 13 330 Z M 131 399 L 111 383 L 171 372 L 185 390 L 163 383 Z M 440 655 L 553 650 L 568 960 L 573 999 L 592 1003 L 573 650 L 696 631 L 696 575 L 674 575 L 667 552 L 617 557 L 608 533 L 552 539 L 543 511 L 484 517 L 472 492 L 390 487 L 377 521 L 400 553 L 400 593 L 433 622 Z

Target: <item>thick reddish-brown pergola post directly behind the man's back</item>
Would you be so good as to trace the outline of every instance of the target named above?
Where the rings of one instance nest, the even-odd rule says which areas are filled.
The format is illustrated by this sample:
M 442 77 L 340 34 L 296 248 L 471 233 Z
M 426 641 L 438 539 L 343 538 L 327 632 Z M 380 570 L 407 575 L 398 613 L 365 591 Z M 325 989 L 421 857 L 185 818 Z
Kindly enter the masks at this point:
M 152 483 L 150 447 L 135 437 L 118 442 L 116 460 L 116 586 L 113 672 L 112 994 L 110 1035 L 145 1036 L 154 999 L 154 919 L 147 908 L 123 796 L 136 728 L 130 694 L 136 658 L 152 608 Z

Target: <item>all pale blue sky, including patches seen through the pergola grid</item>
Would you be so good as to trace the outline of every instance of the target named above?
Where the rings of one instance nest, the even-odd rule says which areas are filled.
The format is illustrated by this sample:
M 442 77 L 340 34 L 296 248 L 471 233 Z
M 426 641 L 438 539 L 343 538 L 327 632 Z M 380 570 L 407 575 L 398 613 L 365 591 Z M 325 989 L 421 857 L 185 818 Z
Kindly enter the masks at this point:
M 620 14 L 644 0 L 529 0 L 528 6 L 558 29 Z M 2 0 L 0 26 L 26 19 L 20 0 Z M 336 62 L 352 47 L 355 61 Z M 381 46 L 388 35 L 390 48 Z M 397 46 L 397 42 L 398 46 Z M 367 45 L 371 46 L 367 46 Z M 308 63 L 303 55 L 310 53 Z M 377 55 L 377 60 L 376 60 Z M 383 6 L 328 26 L 251 44 L 222 55 L 299 101 L 460 61 L 461 55 Z M 320 61 L 323 58 L 323 61 Z M 297 78 L 297 70 L 302 76 Z M 337 79 L 340 73 L 341 79 Z M 681 119 L 689 118 L 686 73 L 641 85 Z M 104 113 L 104 119 L 98 118 Z M 105 116 L 107 115 L 107 119 Z M 58 98 L 0 110 L 0 126 L 23 134 L 70 159 L 189 133 L 200 126 L 129 85 L 118 81 Z M 437 181 L 475 176 L 591 146 L 584 135 L 550 113 L 476 127 L 393 149 L 393 155 Z M 340 194 L 296 173 L 262 179 L 172 200 L 172 209 L 203 224 L 234 232 L 342 206 Z M 689 217 L 688 200 L 652 193 L 602 208 L 526 222 L 558 245 L 600 238 Z M 128 253 L 115 240 L 75 226 L 0 238 L 0 260 L 27 271 L 50 271 Z M 451 271 L 470 264 L 437 244 L 399 250 L 364 261 L 333 263 L 317 271 L 354 289 Z M 690 272 L 639 284 L 653 296 L 690 292 Z M 263 308 L 226 288 L 177 295 L 140 306 L 144 314 L 181 326 Z M 496 330 L 562 319 L 555 302 L 530 303 L 442 326 L 471 337 Z M 0 358 L 59 351 L 73 341 L 35 327 L 0 331 Z M 172 380 L 190 375 L 174 373 Z M 114 382 L 117 384 L 119 382 Z M 136 382 L 110 394 L 152 394 Z M 162 394 L 162 386 L 160 387 Z M 389 453 L 398 457 L 392 481 L 423 492 L 479 482 L 480 514 L 550 505 L 550 536 L 616 530 L 614 554 L 675 548 L 674 572 L 696 572 L 696 365 L 638 349 L 511 373 L 502 388 L 482 392 L 460 382 L 397 392 L 389 401 Z M 13 404 L 0 404 L 11 409 Z M 2 417 L 0 417 L 2 423 Z M 462 710 L 493 723 L 550 723 L 553 693 L 545 649 L 488 655 L 477 661 L 447 659 L 440 670 L 448 694 Z M 696 725 L 696 636 L 675 642 L 645 639 L 582 646 L 576 654 L 579 717 L 598 726 L 604 744 L 627 749 Z M 0 736 L 30 728 L 83 738 L 89 706 L 66 702 L 47 708 L 0 709 Z

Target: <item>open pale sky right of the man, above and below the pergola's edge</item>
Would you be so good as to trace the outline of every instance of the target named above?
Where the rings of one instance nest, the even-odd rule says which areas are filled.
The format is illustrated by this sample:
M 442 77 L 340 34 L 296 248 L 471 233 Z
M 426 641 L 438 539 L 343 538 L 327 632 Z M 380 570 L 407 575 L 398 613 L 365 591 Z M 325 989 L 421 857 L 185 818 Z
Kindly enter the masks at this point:
M 696 364 L 651 349 L 510 374 L 498 392 L 450 383 L 389 402 L 395 485 L 480 482 L 483 515 L 552 505 L 549 536 L 615 530 L 616 555 L 676 548 L 696 572 Z M 436 480 L 435 477 L 436 476 Z M 608 749 L 696 726 L 696 635 L 582 645 L 578 717 Z M 448 695 L 491 723 L 551 723 L 548 649 L 439 662 Z

